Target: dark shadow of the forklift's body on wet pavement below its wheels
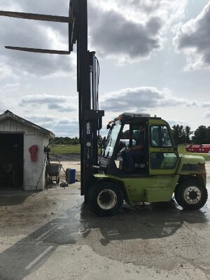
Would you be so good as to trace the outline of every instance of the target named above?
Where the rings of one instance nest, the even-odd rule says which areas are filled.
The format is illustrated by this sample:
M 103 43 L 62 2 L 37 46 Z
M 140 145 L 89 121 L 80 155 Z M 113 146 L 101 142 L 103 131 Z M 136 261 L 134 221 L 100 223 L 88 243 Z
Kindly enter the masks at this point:
M 208 208 L 198 211 L 184 211 L 176 202 L 139 204 L 130 207 L 125 204 L 123 211 L 112 217 L 98 217 L 83 204 L 81 211 L 83 235 L 98 228 L 102 233 L 102 243 L 124 239 L 157 239 L 174 235 L 183 223 L 207 223 L 210 221 Z

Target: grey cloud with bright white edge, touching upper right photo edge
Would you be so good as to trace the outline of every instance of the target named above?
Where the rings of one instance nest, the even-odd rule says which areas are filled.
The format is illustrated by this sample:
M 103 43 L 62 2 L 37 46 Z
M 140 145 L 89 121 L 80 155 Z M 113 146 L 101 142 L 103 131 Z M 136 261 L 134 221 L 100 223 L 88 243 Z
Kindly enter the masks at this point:
M 210 66 L 210 2 L 197 18 L 182 25 L 174 38 L 176 50 L 187 55 L 187 70 Z

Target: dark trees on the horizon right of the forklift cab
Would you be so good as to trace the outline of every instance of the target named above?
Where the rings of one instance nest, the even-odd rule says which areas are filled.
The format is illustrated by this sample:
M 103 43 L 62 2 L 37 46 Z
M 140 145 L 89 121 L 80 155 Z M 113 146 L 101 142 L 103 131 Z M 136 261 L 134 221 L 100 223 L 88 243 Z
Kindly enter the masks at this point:
M 193 132 L 188 125 L 174 125 L 172 134 L 176 144 L 210 144 L 210 126 L 200 125 Z

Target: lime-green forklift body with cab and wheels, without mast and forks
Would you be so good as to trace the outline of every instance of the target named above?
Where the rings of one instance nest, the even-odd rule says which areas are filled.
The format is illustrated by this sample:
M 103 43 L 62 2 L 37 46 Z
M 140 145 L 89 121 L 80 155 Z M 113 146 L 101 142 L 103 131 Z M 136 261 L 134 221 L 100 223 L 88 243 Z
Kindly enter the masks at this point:
M 144 154 L 134 158 L 134 170 L 127 172 L 123 153 L 137 145 L 139 125 L 145 127 Z M 169 202 L 173 194 L 183 209 L 204 206 L 208 197 L 205 160 L 196 155 L 179 155 L 165 120 L 148 114 L 123 113 L 108 128 L 88 195 L 94 212 L 111 216 L 120 211 L 124 201 L 131 205 Z

